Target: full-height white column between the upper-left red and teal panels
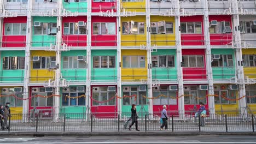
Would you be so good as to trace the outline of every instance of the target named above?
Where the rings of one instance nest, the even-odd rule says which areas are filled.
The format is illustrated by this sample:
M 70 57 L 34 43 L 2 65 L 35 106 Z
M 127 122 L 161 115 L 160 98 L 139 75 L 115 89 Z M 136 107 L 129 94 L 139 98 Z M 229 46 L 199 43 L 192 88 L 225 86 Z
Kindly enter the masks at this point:
M 28 87 L 28 83 L 30 82 L 30 47 L 31 47 L 31 37 L 32 37 L 32 0 L 28 0 L 28 9 L 27 9 L 27 31 L 26 31 L 26 48 L 25 48 L 25 73 L 24 73 L 24 87 L 23 87 L 23 98 L 27 100 L 23 100 L 23 110 L 22 113 L 25 115 L 22 118 L 22 122 L 28 121 L 28 113 L 30 103 L 28 98 L 30 97 L 30 90 Z

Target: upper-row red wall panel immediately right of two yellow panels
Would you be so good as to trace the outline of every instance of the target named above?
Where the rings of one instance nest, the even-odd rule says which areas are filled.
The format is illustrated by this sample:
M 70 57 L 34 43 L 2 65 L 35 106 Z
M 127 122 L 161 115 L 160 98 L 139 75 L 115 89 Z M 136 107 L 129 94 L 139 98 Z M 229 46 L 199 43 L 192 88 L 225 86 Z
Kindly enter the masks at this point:
M 181 16 L 181 22 L 202 23 L 202 34 L 181 34 L 182 45 L 205 45 L 203 36 L 203 16 Z

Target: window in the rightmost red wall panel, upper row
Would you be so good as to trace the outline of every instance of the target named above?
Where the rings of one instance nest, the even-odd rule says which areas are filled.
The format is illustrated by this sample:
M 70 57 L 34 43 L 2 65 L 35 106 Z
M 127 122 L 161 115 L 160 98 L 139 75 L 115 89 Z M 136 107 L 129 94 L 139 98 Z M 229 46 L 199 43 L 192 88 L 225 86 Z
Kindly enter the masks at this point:
M 232 33 L 229 21 L 218 21 L 217 25 L 210 25 L 210 34 L 214 33 Z

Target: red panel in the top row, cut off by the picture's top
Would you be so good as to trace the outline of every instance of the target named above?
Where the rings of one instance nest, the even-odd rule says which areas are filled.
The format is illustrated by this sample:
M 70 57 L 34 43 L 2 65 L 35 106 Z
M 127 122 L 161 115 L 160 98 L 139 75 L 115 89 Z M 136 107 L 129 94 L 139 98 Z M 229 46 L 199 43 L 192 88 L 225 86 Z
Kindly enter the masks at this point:
M 94 2 L 91 0 L 92 13 L 99 13 L 100 11 L 110 13 L 117 11 L 117 2 Z

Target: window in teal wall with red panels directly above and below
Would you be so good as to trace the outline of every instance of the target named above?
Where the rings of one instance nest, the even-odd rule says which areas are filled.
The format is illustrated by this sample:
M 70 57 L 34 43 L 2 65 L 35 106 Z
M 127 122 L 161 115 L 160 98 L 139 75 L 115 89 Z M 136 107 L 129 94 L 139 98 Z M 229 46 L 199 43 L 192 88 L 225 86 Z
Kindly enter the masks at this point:
M 115 56 L 94 56 L 94 68 L 115 68 Z

